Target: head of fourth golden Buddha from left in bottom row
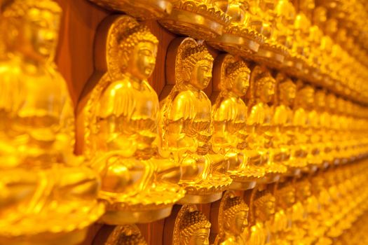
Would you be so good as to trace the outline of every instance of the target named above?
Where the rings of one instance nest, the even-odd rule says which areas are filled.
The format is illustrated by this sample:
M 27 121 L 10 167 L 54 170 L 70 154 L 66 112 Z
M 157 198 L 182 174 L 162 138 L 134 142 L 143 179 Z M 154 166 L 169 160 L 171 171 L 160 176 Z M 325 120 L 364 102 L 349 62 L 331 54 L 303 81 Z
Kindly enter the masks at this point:
M 261 221 L 268 221 L 275 214 L 275 197 L 264 190 L 254 197 L 254 217 Z

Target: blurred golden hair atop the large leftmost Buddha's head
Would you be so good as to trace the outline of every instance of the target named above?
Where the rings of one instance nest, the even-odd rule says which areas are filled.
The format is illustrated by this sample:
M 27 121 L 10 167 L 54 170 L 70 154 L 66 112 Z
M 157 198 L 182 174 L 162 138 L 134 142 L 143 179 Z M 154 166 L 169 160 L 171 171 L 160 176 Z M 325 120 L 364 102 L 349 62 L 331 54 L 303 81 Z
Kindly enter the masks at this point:
M 31 8 L 48 10 L 60 14 L 62 9 L 53 0 L 4 0 L 0 11 L 5 18 L 22 18 Z

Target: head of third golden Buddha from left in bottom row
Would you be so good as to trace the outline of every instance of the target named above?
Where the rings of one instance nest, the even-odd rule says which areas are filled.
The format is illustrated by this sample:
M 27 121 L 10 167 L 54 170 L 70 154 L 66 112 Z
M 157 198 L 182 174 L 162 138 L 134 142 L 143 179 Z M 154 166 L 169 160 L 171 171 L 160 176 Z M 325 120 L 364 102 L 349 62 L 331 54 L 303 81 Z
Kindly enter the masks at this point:
M 241 197 L 229 197 L 224 205 L 224 230 L 241 235 L 248 225 L 248 211 Z

